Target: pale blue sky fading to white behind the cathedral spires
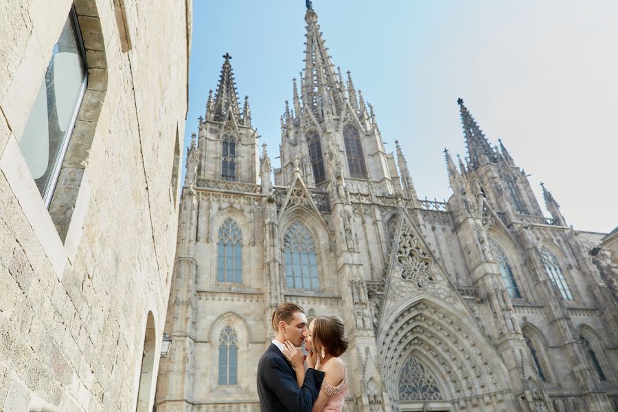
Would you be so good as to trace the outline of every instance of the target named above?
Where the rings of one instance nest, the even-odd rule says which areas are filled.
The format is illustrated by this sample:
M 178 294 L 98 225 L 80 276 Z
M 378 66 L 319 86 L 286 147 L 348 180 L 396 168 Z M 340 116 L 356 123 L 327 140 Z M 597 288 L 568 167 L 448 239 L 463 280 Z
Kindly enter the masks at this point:
M 313 0 L 332 62 L 373 104 L 387 151 L 400 141 L 420 198 L 452 194 L 444 162 L 466 155 L 457 98 L 502 139 L 569 225 L 618 225 L 618 2 Z M 194 0 L 185 146 L 222 55 L 279 167 L 279 117 L 304 67 L 304 0 Z M 260 144 L 261 146 L 261 144 Z M 546 213 L 549 217 L 549 213 Z

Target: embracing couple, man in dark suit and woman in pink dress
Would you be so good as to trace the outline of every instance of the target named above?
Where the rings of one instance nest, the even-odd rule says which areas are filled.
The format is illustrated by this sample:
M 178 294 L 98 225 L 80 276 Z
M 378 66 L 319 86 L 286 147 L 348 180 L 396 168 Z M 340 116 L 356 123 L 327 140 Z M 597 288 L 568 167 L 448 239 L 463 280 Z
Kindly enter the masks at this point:
M 280 304 L 272 319 L 275 339 L 258 363 L 262 412 L 341 412 L 347 392 L 343 321 L 335 314 L 307 325 L 301 306 Z M 299 347 L 305 343 L 307 356 Z

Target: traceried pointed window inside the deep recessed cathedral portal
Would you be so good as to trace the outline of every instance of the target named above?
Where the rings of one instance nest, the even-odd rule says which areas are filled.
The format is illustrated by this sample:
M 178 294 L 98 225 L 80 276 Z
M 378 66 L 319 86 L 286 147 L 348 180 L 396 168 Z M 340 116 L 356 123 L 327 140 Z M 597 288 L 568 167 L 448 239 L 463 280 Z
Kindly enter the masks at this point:
M 416 358 L 409 358 L 399 378 L 399 400 L 442 400 L 435 378 Z

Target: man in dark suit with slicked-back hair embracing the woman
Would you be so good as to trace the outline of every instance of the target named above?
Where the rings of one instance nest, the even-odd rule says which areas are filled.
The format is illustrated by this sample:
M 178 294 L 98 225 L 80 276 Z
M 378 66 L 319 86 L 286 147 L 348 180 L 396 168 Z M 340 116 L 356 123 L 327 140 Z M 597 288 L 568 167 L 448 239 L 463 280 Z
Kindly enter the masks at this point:
M 308 368 L 302 387 L 296 383 L 292 365 L 283 354 L 284 342 L 303 344 L 307 317 L 297 304 L 284 302 L 273 312 L 275 339 L 258 363 L 258 395 L 262 412 L 310 412 L 324 379 L 324 372 Z M 297 354 L 301 356 L 301 354 Z M 309 365 L 313 365 L 308 358 Z

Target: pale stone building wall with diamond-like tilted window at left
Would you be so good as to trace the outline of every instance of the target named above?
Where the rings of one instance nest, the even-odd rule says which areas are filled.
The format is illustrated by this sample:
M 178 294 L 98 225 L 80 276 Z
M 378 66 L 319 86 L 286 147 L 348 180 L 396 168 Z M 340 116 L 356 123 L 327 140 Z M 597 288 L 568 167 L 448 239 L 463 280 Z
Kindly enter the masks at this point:
M 152 410 L 190 4 L 0 4 L 1 411 Z

